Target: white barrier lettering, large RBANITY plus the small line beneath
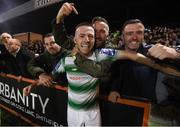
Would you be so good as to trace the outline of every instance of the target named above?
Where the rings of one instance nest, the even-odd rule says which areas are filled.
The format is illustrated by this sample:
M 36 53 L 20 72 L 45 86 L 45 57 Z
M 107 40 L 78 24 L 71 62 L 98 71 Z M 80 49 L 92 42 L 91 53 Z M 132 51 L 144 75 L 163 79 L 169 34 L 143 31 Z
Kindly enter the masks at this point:
M 15 107 L 19 111 L 26 113 L 36 120 L 41 120 L 42 122 L 54 127 L 63 127 L 63 125 L 59 124 L 58 122 L 33 111 L 36 109 L 36 104 L 39 101 L 42 114 L 46 114 L 46 107 L 48 106 L 49 100 L 49 98 L 43 99 L 40 95 L 35 93 L 30 93 L 29 96 L 25 96 L 18 88 L 14 88 L 13 86 L 0 82 L 0 101 Z M 27 107 L 31 107 L 33 110 L 30 110 Z

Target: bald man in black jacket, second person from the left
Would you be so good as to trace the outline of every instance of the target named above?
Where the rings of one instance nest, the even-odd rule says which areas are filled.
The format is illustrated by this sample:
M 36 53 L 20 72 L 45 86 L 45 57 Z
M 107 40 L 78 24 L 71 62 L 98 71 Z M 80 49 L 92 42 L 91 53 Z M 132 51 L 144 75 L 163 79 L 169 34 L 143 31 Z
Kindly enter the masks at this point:
M 9 54 L 3 58 L 6 62 L 7 73 L 31 78 L 27 71 L 27 63 L 35 57 L 35 55 L 23 49 L 18 39 L 9 39 L 8 45 L 7 50 Z

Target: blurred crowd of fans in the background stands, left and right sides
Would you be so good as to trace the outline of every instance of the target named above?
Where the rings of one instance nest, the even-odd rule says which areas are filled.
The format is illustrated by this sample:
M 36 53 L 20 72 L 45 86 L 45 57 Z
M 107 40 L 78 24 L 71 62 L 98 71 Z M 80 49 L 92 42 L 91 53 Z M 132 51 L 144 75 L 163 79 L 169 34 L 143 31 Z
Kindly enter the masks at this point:
M 123 45 L 121 32 L 119 30 L 111 32 L 109 38 L 115 45 L 118 45 L 118 47 Z M 148 44 L 160 43 L 168 47 L 175 47 L 180 45 L 180 28 L 158 26 L 146 28 L 144 39 Z M 45 51 L 44 42 L 41 40 L 33 40 L 30 42 L 22 41 L 21 43 L 23 48 L 28 49 L 35 54 L 42 54 Z

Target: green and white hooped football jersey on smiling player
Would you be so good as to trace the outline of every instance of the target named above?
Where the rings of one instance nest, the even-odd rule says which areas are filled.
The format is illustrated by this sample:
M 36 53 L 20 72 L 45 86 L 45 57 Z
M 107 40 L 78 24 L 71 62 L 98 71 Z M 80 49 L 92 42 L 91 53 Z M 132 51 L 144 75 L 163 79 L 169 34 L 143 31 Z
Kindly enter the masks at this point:
M 96 50 L 89 58 L 94 61 L 104 59 L 114 60 L 117 58 L 117 50 L 106 49 Z M 99 80 L 77 69 L 74 63 L 75 57 L 68 56 L 62 58 L 55 69 L 53 75 L 66 72 L 68 79 L 68 105 L 71 108 L 86 110 L 97 104 L 99 96 Z

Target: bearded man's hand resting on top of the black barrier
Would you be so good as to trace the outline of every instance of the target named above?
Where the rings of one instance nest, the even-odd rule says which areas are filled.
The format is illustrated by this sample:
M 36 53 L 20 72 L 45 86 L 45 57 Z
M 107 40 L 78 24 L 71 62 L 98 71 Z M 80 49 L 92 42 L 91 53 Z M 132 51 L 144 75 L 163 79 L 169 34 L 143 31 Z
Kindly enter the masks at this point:
M 45 74 L 45 73 L 42 73 L 39 75 L 39 80 L 38 80 L 38 85 L 44 85 L 44 86 L 47 86 L 47 87 L 50 87 L 52 86 L 52 77 Z

